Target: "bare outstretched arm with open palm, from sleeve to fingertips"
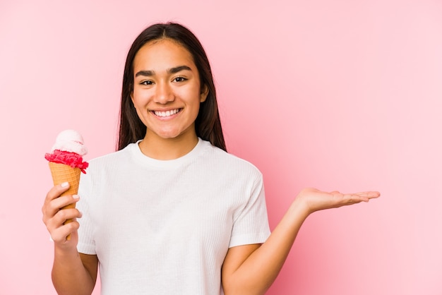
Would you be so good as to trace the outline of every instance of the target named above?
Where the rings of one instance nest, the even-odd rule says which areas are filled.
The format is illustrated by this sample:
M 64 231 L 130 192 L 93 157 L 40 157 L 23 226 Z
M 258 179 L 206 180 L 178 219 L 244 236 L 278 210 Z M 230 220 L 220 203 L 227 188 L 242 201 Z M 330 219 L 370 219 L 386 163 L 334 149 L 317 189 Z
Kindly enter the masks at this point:
M 280 272 L 302 223 L 312 212 L 368 202 L 378 196 L 378 192 L 342 194 L 304 189 L 265 243 L 229 249 L 222 266 L 225 294 L 264 294 Z

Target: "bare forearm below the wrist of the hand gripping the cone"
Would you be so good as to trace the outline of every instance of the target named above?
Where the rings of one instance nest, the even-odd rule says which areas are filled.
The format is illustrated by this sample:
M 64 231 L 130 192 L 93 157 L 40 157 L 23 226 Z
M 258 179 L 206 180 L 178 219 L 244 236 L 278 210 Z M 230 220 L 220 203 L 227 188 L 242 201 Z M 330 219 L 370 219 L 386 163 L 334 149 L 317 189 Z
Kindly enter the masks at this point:
M 92 293 L 95 280 L 84 267 L 78 251 L 54 249 L 52 282 L 59 295 L 83 295 Z

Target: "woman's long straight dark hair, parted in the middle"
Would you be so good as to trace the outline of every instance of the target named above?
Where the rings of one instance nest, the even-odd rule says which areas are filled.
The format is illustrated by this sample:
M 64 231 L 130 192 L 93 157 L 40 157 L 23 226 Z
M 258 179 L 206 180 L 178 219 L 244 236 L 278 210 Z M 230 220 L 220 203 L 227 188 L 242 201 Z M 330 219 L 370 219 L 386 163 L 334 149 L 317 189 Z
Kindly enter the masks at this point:
M 133 59 L 138 50 L 144 44 L 152 40 L 170 39 L 179 42 L 193 56 L 193 62 L 198 69 L 201 88 L 205 85 L 209 92 L 204 102 L 200 104 L 200 110 L 195 121 L 196 136 L 208 140 L 222 150 L 227 150 L 222 134 L 220 114 L 218 112 L 215 84 L 213 83 L 212 70 L 203 49 L 195 35 L 183 25 L 178 23 L 157 23 L 150 25 L 141 32 L 133 41 L 124 66 L 123 87 L 121 90 L 121 109 L 119 122 L 119 138 L 117 150 L 121 150 L 144 138 L 146 126 L 138 118 L 135 107 L 131 100 L 133 91 Z

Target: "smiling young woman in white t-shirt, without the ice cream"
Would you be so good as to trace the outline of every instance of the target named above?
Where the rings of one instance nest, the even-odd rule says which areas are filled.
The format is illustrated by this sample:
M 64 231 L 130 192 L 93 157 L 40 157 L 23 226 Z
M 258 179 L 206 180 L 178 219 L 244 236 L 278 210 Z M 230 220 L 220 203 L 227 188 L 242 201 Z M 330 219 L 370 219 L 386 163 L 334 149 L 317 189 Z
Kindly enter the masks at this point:
M 81 198 L 59 197 L 67 188 L 42 212 L 54 287 L 75 295 L 92 292 L 99 264 L 102 294 L 264 294 L 306 217 L 379 196 L 305 189 L 270 234 L 261 173 L 226 152 L 207 56 L 177 23 L 133 42 L 118 151 L 90 161 Z

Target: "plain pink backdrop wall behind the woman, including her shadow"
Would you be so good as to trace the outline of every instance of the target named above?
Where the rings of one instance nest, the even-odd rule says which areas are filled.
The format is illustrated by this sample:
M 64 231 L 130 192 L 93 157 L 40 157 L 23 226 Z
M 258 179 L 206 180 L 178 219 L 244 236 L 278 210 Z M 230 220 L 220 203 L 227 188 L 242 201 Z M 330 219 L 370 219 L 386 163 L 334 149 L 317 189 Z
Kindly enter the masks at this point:
M 306 186 L 382 193 L 309 217 L 268 294 L 442 294 L 441 1 L 89 2 L 0 2 L 0 294 L 55 294 L 44 152 L 65 128 L 114 150 L 126 52 L 167 20 L 207 50 L 272 228 Z

